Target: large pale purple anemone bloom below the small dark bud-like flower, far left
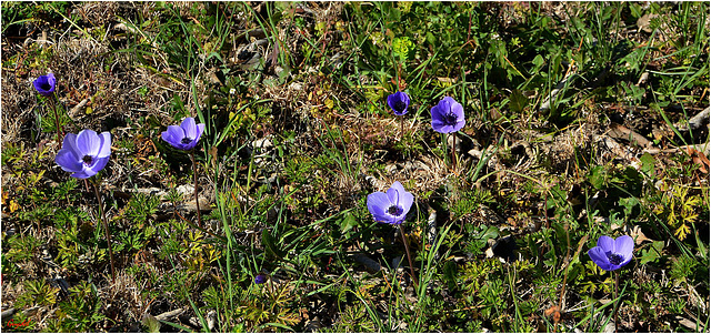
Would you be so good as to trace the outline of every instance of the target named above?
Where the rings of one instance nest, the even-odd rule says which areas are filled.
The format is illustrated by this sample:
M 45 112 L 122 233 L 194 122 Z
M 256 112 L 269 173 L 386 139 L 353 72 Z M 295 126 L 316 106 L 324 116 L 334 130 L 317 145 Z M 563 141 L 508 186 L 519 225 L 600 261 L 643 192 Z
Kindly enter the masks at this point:
M 70 176 L 87 179 L 103 170 L 110 158 L 111 133 L 97 134 L 92 130 L 82 130 L 79 134 L 67 133 L 54 162 L 62 170 L 73 173 Z

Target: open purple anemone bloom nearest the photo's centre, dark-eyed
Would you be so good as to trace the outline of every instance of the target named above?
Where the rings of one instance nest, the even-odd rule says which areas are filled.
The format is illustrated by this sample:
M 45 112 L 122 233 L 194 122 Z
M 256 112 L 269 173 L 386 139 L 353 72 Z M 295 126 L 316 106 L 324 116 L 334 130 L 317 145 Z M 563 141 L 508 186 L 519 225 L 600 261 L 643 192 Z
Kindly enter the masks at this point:
M 399 225 L 404 222 L 412 202 L 414 196 L 395 181 L 387 193 L 374 192 L 368 195 L 368 211 L 379 223 Z

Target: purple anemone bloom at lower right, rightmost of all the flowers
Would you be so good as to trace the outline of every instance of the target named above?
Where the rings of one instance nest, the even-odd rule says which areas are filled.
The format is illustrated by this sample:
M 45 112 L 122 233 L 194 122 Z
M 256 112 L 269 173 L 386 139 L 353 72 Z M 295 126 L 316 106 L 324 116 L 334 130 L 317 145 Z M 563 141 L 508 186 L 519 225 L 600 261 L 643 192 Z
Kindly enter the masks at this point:
M 590 259 L 605 271 L 615 271 L 632 260 L 634 241 L 629 235 L 612 239 L 607 235 L 598 239 L 598 245 L 588 251 Z

